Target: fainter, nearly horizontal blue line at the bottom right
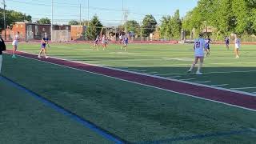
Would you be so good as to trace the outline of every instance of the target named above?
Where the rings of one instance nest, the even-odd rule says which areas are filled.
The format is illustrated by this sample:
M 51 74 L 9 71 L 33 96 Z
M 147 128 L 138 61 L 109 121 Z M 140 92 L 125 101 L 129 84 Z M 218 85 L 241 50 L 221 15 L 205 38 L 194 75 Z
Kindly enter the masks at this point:
M 194 139 L 210 138 L 210 137 L 224 137 L 230 135 L 241 135 L 241 134 L 256 134 L 254 129 L 244 129 L 244 130 L 233 130 L 229 132 L 217 132 L 212 134 L 198 134 L 194 136 L 178 137 L 178 138 L 167 138 L 156 141 L 146 141 L 146 142 L 136 142 L 137 144 L 160 144 L 160 143 L 171 143 L 180 141 L 190 141 Z

